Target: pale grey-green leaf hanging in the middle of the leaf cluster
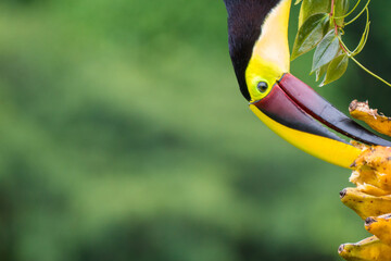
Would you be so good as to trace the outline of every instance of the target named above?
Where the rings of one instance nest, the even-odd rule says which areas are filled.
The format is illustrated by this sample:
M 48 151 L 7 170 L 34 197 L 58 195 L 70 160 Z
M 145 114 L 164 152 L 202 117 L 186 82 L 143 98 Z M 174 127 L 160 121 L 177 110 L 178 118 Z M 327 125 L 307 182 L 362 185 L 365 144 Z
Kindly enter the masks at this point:
M 336 36 L 335 30 L 331 29 L 327 33 L 325 38 L 323 38 L 315 50 L 311 74 L 335 59 L 339 50 L 339 39 Z

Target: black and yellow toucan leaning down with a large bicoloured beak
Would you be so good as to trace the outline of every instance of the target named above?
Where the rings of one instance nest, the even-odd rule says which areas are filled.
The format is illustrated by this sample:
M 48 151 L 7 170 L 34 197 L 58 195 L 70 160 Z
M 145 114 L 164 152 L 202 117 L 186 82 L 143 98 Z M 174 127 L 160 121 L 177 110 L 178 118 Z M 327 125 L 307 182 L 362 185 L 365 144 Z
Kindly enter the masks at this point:
M 362 150 L 329 128 L 363 144 L 391 147 L 289 73 L 291 0 L 224 2 L 229 54 L 241 94 L 270 129 L 305 152 L 348 169 Z

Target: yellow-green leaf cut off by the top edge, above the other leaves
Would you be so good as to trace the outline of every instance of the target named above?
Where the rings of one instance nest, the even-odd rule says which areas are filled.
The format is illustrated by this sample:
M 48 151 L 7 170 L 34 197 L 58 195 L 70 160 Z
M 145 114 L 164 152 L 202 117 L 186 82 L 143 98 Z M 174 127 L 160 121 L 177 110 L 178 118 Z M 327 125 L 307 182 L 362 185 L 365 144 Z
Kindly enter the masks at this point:
M 339 0 L 341 1 L 341 0 Z M 312 15 L 317 13 L 330 13 L 330 0 L 303 0 L 299 14 L 299 28 Z

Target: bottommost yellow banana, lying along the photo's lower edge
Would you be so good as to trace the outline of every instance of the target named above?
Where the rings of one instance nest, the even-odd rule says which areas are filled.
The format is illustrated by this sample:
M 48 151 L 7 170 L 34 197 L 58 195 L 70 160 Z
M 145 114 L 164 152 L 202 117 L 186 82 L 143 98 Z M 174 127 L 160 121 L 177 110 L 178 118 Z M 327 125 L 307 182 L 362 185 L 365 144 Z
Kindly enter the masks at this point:
M 376 236 L 368 237 L 356 244 L 343 244 L 338 253 L 348 261 L 387 261 L 391 260 L 391 247 Z

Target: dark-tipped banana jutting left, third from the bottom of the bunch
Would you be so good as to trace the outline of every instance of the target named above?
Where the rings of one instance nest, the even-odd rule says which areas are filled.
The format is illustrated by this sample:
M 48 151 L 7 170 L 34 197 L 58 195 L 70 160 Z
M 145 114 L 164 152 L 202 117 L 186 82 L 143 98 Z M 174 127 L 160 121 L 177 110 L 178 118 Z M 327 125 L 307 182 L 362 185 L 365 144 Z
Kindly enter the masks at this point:
M 391 213 L 391 196 L 373 196 L 358 188 L 345 188 L 340 192 L 341 201 L 354 210 L 363 220 Z

